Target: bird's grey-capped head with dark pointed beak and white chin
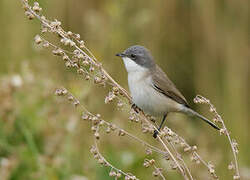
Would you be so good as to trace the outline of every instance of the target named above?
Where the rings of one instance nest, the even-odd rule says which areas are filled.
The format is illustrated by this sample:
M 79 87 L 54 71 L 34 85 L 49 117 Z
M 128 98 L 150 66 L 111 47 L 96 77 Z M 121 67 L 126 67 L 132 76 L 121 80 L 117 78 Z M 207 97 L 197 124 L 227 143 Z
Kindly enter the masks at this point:
M 147 69 L 150 69 L 155 66 L 155 62 L 151 53 L 143 46 L 131 46 L 123 53 L 116 54 L 116 56 L 122 57 L 128 71 L 132 70 L 131 68 L 134 68 L 131 67 L 133 66 L 133 63 L 128 61 L 133 61 L 136 65 Z

